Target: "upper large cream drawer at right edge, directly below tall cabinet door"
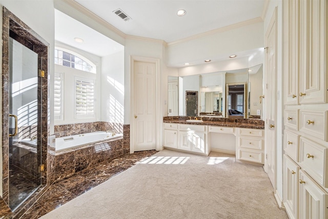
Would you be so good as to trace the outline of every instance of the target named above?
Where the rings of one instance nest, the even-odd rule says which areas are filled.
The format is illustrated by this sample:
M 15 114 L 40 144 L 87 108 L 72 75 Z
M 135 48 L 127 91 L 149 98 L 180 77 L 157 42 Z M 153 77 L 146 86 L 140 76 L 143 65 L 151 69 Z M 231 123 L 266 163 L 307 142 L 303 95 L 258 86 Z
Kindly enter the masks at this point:
M 300 110 L 299 126 L 300 131 L 327 141 L 327 112 L 328 111 L 307 111 Z M 306 135 L 305 135 L 306 136 Z

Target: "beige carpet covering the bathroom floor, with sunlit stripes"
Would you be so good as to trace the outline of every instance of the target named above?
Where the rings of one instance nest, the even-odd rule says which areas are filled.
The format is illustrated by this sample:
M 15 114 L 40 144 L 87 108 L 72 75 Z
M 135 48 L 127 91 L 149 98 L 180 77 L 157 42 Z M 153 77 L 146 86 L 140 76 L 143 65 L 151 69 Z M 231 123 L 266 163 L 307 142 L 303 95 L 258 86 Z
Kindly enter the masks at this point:
M 162 150 L 46 218 L 288 218 L 263 168 Z

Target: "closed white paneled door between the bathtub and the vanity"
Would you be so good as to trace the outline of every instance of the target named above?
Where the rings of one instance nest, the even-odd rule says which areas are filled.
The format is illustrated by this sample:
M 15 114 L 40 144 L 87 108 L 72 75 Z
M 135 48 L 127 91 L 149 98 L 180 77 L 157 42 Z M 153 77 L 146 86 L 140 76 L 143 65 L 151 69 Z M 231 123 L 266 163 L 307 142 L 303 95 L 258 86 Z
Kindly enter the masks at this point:
M 156 64 L 134 62 L 134 151 L 154 150 Z

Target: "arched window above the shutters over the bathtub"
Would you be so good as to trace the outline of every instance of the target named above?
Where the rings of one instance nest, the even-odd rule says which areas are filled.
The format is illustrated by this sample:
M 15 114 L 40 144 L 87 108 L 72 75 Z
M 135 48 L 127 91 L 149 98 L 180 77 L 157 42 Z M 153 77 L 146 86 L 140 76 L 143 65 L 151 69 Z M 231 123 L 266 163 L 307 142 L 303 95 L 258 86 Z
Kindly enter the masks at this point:
M 96 73 L 96 65 L 87 58 L 61 48 L 55 48 L 55 64 Z

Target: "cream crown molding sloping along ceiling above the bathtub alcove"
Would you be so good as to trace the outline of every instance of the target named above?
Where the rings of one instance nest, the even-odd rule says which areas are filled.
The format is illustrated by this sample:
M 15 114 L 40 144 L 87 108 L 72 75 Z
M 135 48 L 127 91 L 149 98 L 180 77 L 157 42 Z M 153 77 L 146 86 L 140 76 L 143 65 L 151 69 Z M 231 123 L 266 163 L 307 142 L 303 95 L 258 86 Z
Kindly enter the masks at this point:
M 115 32 L 119 36 L 121 36 L 123 38 L 125 38 L 127 36 L 124 32 L 118 30 L 116 27 L 109 24 L 104 19 L 100 18 L 95 13 L 93 13 L 93 12 L 89 11 L 88 9 L 86 9 L 85 7 L 81 6 L 80 4 L 75 2 L 74 0 L 61 0 L 61 1 L 66 3 L 67 5 L 71 6 L 72 8 L 78 10 L 79 12 L 83 13 L 84 15 L 91 18 L 93 21 L 99 23 L 100 25 L 103 25 L 104 27 L 108 28 L 109 30 L 112 30 L 113 32 Z M 54 2 L 57 2 L 57 1 L 54 1 Z

